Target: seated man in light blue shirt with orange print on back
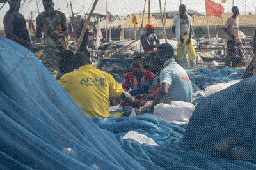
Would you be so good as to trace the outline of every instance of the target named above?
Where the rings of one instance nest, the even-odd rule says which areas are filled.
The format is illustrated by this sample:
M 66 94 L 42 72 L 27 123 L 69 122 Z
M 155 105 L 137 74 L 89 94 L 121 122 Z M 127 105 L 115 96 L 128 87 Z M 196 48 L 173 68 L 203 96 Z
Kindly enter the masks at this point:
M 174 50 L 168 43 L 158 46 L 155 61 L 162 68 L 160 73 L 160 89 L 157 92 L 152 106 L 148 110 L 153 113 L 154 106 L 159 103 L 171 103 L 171 101 L 191 102 L 193 91 L 191 81 L 186 71 L 173 59 Z

